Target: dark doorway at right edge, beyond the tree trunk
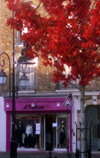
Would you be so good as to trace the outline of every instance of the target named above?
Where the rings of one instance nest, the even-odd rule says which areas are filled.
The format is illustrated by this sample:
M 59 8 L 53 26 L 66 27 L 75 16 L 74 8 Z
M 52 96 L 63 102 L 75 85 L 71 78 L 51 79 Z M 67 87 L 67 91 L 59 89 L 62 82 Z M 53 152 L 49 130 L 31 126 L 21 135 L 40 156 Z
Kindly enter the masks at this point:
M 87 131 L 87 148 L 90 149 L 91 143 L 91 150 L 97 151 L 99 150 L 99 108 L 98 106 L 90 105 L 86 108 L 86 124 L 87 128 L 90 127 L 91 124 L 91 138 L 90 132 Z M 95 129 L 95 130 L 94 130 Z M 91 140 L 90 140 L 91 139 Z

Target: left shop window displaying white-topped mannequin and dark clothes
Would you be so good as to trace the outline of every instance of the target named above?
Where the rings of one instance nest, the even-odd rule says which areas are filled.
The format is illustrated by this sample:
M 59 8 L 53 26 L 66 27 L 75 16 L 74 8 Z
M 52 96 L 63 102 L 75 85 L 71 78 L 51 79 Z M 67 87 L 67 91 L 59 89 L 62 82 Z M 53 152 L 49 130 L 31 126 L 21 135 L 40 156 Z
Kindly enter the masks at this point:
M 20 117 L 16 119 L 18 148 L 39 148 L 39 117 Z

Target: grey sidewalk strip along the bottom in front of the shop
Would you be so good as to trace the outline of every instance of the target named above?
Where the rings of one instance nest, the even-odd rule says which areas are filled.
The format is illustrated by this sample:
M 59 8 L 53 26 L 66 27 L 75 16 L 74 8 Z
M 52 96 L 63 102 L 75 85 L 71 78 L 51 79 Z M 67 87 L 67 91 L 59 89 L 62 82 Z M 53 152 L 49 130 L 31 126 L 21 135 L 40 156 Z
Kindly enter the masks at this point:
M 71 154 L 75 158 L 75 154 Z M 0 158 L 10 158 L 9 152 L 0 152 Z M 50 158 L 49 151 L 41 152 L 17 152 L 17 158 Z M 66 152 L 52 152 L 51 158 L 67 158 Z M 93 152 L 91 158 L 100 158 L 100 152 Z

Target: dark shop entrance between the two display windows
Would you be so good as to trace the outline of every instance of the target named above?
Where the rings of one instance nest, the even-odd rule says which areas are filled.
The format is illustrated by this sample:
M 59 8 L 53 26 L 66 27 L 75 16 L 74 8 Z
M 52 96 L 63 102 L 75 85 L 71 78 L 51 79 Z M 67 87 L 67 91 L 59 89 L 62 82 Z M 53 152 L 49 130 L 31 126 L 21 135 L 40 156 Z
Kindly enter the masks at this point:
M 46 150 L 53 150 L 56 144 L 56 131 L 53 129 L 53 122 L 56 121 L 56 116 L 52 114 L 45 115 L 46 120 Z

